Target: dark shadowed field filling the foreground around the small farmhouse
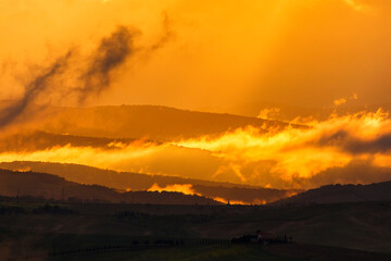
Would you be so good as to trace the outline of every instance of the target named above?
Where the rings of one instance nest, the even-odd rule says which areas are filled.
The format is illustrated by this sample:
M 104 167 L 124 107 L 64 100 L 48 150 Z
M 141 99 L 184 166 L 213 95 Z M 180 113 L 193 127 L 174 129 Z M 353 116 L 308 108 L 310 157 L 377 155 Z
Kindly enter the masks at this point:
M 324 260 L 330 254 L 333 259 L 325 260 L 352 257 L 389 260 L 391 257 L 390 202 L 277 208 L 48 203 L 2 198 L 0 213 L 3 260 L 35 256 L 31 260 L 308 260 L 310 256 L 311 260 Z M 265 248 L 230 244 L 232 237 L 254 234 L 256 229 L 291 236 L 294 244 Z M 49 253 L 65 256 L 45 258 Z

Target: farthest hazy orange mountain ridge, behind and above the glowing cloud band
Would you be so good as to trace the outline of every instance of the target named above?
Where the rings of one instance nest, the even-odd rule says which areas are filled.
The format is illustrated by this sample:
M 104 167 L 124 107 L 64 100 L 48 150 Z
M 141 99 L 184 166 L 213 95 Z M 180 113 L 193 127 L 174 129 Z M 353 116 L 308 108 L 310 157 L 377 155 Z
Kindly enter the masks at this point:
M 229 129 L 254 126 L 285 128 L 289 123 L 232 114 L 178 110 L 156 105 L 48 108 L 37 114 L 40 130 L 90 137 L 147 138 L 167 141 L 218 135 Z M 38 124 L 38 125 L 37 125 Z M 293 125 L 294 127 L 304 127 Z

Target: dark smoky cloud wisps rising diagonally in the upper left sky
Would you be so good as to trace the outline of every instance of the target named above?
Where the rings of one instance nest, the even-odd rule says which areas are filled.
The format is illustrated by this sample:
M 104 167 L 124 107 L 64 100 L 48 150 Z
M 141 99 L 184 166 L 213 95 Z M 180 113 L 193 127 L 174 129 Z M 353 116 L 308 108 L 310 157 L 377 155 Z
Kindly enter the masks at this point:
M 0 128 L 13 123 L 39 96 L 55 94 L 60 95 L 63 100 L 76 99 L 79 104 L 83 104 L 90 96 L 99 96 L 111 86 L 112 72 L 123 65 L 128 58 L 138 51 L 150 54 L 169 40 L 172 30 L 166 14 L 163 27 L 163 36 L 150 46 L 136 48 L 135 37 L 140 35 L 140 32 L 117 26 L 109 37 L 101 39 L 98 48 L 88 57 L 87 61 L 81 57 L 76 57 L 75 51 L 68 51 L 26 85 L 22 99 L 11 102 L 1 110 Z M 87 66 L 80 67 L 76 74 L 67 72 L 80 66 L 84 62 Z M 76 87 L 66 85 L 62 80 L 64 75 L 76 79 Z

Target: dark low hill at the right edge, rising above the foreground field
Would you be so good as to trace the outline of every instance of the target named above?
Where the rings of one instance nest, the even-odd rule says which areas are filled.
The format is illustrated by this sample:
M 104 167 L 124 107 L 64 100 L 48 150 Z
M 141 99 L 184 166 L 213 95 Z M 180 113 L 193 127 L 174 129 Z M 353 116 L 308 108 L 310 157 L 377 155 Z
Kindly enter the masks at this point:
M 391 182 L 369 185 L 327 185 L 310 189 L 275 204 L 340 203 L 361 201 L 391 201 Z

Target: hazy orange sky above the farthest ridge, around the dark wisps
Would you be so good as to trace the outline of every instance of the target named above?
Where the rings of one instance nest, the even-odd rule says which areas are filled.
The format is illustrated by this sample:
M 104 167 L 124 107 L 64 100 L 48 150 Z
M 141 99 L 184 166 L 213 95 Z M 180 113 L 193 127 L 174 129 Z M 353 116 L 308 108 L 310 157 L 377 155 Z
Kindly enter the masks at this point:
M 86 63 L 125 27 L 134 52 L 104 90 L 38 102 L 223 111 L 263 101 L 329 107 L 353 96 L 388 103 L 390 11 L 384 0 L 0 0 L 0 99 L 22 97 L 70 51 L 71 67 Z

